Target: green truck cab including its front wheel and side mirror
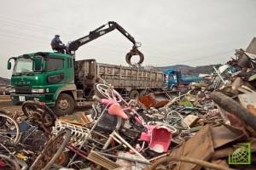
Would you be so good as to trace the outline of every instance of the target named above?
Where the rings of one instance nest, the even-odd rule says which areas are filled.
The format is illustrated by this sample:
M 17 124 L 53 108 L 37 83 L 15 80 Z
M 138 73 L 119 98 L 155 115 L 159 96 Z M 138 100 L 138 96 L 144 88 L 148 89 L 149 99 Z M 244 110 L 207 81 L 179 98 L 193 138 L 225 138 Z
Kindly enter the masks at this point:
M 49 52 L 23 54 L 9 59 L 9 70 L 12 59 L 15 65 L 10 96 L 15 105 L 26 100 L 38 100 L 54 107 L 59 115 L 73 111 L 76 86 L 72 55 Z

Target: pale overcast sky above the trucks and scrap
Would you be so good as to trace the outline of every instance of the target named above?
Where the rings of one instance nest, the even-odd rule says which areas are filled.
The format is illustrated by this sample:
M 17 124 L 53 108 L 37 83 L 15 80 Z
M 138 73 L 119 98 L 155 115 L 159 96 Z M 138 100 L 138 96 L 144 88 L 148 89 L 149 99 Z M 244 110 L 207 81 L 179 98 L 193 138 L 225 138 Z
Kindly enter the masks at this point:
M 256 34 L 255 0 L 9 0 L 0 6 L 0 77 L 9 57 L 51 51 L 113 20 L 143 46 L 144 65 L 225 63 Z M 77 59 L 124 65 L 131 42 L 119 31 L 79 48 Z

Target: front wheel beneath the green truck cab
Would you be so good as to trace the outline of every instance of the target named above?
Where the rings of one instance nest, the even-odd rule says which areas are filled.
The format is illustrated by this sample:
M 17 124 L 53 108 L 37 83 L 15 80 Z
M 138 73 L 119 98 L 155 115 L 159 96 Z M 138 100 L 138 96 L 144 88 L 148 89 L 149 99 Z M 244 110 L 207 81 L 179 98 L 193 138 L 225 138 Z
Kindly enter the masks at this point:
M 60 94 L 55 102 L 54 111 L 57 116 L 70 115 L 74 110 L 74 99 L 68 94 Z

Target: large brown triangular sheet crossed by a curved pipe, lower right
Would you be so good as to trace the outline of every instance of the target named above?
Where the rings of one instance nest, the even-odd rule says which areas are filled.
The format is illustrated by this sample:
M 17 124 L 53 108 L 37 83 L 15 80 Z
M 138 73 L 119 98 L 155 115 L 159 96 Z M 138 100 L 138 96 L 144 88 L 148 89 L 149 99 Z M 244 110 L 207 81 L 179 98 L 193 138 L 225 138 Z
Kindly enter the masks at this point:
M 212 157 L 213 152 L 211 127 L 206 125 L 182 146 L 176 150 L 173 150 L 171 156 L 188 156 L 191 158 L 208 161 Z M 201 166 L 192 163 L 178 163 L 175 169 L 199 170 L 201 169 Z

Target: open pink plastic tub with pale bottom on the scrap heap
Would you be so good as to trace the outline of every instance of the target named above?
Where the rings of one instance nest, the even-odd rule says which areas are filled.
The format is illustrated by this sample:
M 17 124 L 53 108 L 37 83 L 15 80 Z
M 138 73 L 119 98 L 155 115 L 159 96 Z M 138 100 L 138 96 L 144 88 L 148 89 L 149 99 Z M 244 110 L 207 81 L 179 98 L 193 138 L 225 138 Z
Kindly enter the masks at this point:
M 149 143 L 150 150 L 158 153 L 168 151 L 172 140 L 172 131 L 168 127 L 156 126 L 152 129 L 151 139 Z

